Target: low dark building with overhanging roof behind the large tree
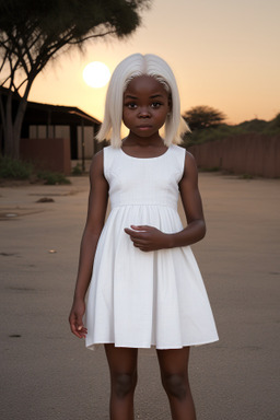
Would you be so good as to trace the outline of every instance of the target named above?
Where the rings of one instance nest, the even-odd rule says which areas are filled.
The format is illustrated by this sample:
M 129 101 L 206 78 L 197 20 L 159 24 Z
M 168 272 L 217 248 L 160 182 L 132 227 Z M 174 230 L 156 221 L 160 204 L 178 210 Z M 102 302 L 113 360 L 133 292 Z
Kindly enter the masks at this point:
M 3 105 L 8 93 L 7 89 L 0 88 Z M 16 95 L 14 95 L 13 114 L 16 112 L 18 101 Z M 63 159 L 81 161 L 84 167 L 84 161 L 91 159 L 103 147 L 94 140 L 100 126 L 100 120 L 77 107 L 28 101 L 22 125 L 21 155 L 23 159 L 36 159 L 36 161 L 42 161 L 43 155 L 46 161 L 44 164 L 47 164 L 49 160 L 55 161 L 57 156 L 56 145 L 61 143 L 63 149 L 69 150 L 65 150 Z M 1 119 L 0 144 L 3 151 L 4 138 Z M 54 156 L 51 158 L 51 155 Z M 50 166 L 54 165 L 50 164 Z M 59 166 L 59 164 L 55 166 Z M 67 166 L 69 167 L 69 164 Z

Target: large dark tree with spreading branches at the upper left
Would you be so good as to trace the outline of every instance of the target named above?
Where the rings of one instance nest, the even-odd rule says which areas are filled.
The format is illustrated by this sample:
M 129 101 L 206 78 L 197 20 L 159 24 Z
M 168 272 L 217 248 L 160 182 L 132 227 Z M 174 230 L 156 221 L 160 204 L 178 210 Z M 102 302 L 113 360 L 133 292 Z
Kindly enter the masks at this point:
M 86 39 L 128 36 L 149 4 L 150 0 L 0 0 L 0 90 L 8 89 L 5 101 L 0 91 L 5 154 L 19 158 L 27 97 L 46 65 L 71 47 L 82 49 Z

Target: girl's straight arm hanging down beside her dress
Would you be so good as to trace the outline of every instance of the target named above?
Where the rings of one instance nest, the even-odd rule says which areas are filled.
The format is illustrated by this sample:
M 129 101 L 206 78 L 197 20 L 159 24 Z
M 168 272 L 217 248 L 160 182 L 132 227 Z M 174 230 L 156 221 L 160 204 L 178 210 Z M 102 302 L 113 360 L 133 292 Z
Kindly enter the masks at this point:
M 84 299 L 91 281 L 94 255 L 104 225 L 108 202 L 108 184 L 103 172 L 103 151 L 96 153 L 93 158 L 90 170 L 90 185 L 88 218 L 80 248 L 73 305 L 69 315 L 71 331 L 79 338 L 86 335 L 86 328 L 84 328 L 82 320 L 85 311 Z

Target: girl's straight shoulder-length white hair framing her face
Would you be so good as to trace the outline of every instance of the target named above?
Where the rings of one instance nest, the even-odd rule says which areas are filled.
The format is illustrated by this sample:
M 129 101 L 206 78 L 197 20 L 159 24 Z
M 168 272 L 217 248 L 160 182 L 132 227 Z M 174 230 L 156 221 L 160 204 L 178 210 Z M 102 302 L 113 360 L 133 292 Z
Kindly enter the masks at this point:
M 109 140 L 114 148 L 121 147 L 121 121 L 124 92 L 128 83 L 140 75 L 150 75 L 162 83 L 171 94 L 171 112 L 164 124 L 164 144 L 182 142 L 182 135 L 189 131 L 180 116 L 179 93 L 175 77 L 170 66 L 162 58 L 152 54 L 133 54 L 116 67 L 112 74 L 106 95 L 105 114 L 96 136 L 98 141 Z

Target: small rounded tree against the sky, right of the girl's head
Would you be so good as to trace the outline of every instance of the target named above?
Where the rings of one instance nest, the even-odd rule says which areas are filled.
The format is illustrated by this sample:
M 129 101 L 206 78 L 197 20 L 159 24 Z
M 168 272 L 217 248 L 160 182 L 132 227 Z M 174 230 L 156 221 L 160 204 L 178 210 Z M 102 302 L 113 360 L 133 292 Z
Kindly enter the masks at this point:
M 218 127 L 225 120 L 225 115 L 211 106 L 194 106 L 187 110 L 183 118 L 186 119 L 191 130 Z

